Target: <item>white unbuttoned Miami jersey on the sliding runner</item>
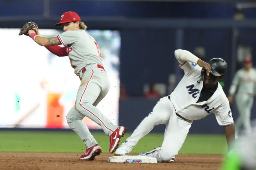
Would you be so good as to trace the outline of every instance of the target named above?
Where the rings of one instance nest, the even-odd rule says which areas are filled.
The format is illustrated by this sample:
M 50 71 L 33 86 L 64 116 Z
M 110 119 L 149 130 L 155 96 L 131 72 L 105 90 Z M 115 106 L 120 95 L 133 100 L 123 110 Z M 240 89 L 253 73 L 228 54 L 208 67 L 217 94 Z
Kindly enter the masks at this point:
M 234 123 L 222 86 L 218 83 L 217 90 L 207 101 L 196 103 L 203 87 L 203 81 L 200 81 L 202 67 L 191 62 L 180 64 L 180 67 L 185 74 L 170 94 L 176 113 L 189 120 L 202 119 L 214 113 L 219 125 L 226 126 Z

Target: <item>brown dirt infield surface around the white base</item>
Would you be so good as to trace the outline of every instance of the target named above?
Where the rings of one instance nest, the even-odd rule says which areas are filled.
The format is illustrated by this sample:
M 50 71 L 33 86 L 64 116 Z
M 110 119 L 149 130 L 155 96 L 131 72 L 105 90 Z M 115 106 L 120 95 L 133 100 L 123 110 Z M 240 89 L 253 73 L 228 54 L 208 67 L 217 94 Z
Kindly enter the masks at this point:
M 78 153 L 0 152 L 0 170 L 217 170 L 222 155 L 178 154 L 171 163 L 110 163 L 100 154 L 93 161 L 79 160 Z

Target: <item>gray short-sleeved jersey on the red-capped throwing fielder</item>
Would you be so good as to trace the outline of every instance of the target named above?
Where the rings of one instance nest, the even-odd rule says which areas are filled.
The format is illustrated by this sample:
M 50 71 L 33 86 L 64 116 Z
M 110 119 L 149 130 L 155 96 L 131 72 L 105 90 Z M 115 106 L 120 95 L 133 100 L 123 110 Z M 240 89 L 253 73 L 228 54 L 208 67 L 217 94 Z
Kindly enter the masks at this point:
M 100 48 L 95 39 L 85 30 L 65 31 L 57 37 L 63 45 L 67 46 L 67 55 L 77 76 L 87 65 L 102 65 Z

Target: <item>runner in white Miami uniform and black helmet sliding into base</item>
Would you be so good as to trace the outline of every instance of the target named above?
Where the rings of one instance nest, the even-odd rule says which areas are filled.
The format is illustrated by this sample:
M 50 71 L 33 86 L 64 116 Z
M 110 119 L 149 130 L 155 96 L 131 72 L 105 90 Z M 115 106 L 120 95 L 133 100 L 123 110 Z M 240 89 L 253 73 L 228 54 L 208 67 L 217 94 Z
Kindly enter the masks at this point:
M 145 117 L 132 135 L 116 150 L 116 155 L 126 155 L 155 125 L 166 124 L 162 147 L 139 155 L 151 156 L 158 162 L 173 161 L 181 149 L 193 120 L 214 113 L 219 125 L 225 127 L 229 149 L 234 141 L 235 128 L 228 99 L 218 83 L 226 70 L 223 59 L 214 58 L 205 63 L 186 50 L 178 49 L 175 57 L 184 70 L 172 94 L 161 98 L 153 111 Z

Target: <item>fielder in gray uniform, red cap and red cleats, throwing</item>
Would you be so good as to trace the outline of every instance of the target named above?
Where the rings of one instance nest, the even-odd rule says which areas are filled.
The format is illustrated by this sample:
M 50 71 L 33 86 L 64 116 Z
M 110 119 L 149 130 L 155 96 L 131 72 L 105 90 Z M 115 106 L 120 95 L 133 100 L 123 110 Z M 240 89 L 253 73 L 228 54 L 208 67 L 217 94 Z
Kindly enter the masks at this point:
M 85 116 L 100 125 L 106 135 L 110 137 L 109 152 L 113 153 L 126 128 L 114 125 L 96 107 L 110 88 L 110 82 L 102 64 L 100 48 L 95 39 L 85 31 L 86 25 L 81 22 L 75 12 L 65 12 L 62 14 L 60 22 L 55 25 L 62 25 L 64 30 L 56 37 L 43 37 L 40 36 L 39 31 L 36 32 L 32 29 L 28 31 L 28 34 L 36 43 L 45 46 L 55 55 L 60 57 L 68 55 L 74 73 L 81 80 L 75 106 L 67 115 L 68 125 L 86 145 L 86 151 L 80 156 L 80 159 L 94 160 L 94 157 L 102 152 L 88 127 L 82 122 Z M 64 47 L 58 46 L 61 44 Z M 58 76 L 58 74 L 56 75 Z

